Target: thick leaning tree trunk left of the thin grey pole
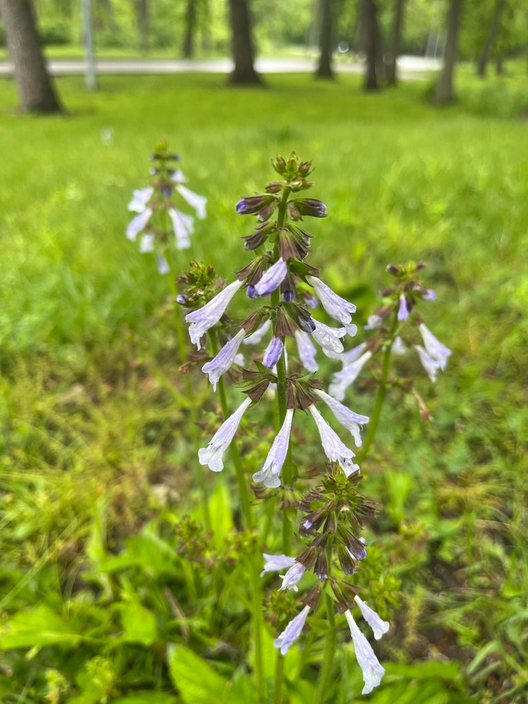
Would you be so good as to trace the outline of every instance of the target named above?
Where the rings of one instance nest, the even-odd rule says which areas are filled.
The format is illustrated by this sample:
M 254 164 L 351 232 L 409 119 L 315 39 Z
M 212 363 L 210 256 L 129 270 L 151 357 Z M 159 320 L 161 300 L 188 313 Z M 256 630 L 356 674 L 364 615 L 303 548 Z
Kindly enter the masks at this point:
M 0 0 L 7 48 L 24 112 L 61 113 L 63 108 L 48 75 L 31 0 Z

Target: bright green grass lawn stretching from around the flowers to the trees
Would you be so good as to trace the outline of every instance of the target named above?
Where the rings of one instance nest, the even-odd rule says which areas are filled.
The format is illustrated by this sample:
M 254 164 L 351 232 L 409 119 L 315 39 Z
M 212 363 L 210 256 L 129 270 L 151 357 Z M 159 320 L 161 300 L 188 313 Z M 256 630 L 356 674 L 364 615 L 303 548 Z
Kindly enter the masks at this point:
M 327 204 L 329 217 L 312 228 L 325 281 L 365 322 L 388 285 L 386 264 L 424 260 L 437 293 L 427 325 L 453 349 L 434 388 L 425 376 L 417 383 L 434 422 L 389 399 L 365 467 L 363 489 L 381 506 L 376 540 L 401 580 L 384 650 L 392 686 L 419 681 L 412 663 L 460 662 L 460 672 L 434 680 L 433 695 L 444 697 L 434 701 L 522 703 L 528 90 L 515 77 L 477 84 L 463 75 L 460 103 L 437 110 L 422 83 L 365 95 L 352 76 L 267 82 L 227 89 L 217 75 L 101 77 L 87 94 L 82 77 L 65 78 L 65 118 L 16 114 L 15 87 L 2 82 L 0 609 L 7 618 L 63 603 L 103 543 L 118 552 L 167 505 L 196 505 L 201 468 L 189 467 L 166 282 L 124 235 L 153 145 L 168 138 L 189 187 L 208 197 L 181 267 L 205 260 L 227 279 L 249 260 L 240 237 L 251 224 L 234 203 L 272 179 L 270 158 L 294 150 L 313 160 L 311 194 Z M 215 410 L 196 379 L 207 413 Z M 369 412 L 367 396 L 348 400 Z M 44 701 L 44 685 L 20 693 L 27 672 L 51 687 L 43 672 L 54 670 L 52 658 L 28 665 L 10 653 L 15 677 L 0 673 L 6 702 Z M 382 698 L 389 685 L 372 701 L 391 701 Z M 115 687 L 108 700 L 129 689 Z

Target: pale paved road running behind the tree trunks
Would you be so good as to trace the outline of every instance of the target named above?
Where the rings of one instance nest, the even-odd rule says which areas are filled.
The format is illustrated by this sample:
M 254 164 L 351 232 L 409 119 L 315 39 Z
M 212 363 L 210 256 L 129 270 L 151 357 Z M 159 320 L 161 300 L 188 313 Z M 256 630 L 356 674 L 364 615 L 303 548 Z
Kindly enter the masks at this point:
M 258 73 L 312 73 L 315 70 L 312 58 L 258 58 Z M 153 73 L 231 73 L 233 63 L 230 59 L 213 61 L 170 61 L 166 59 L 100 59 L 96 62 L 97 73 L 139 75 Z M 85 63 L 82 59 L 53 59 L 48 62 L 51 73 L 55 76 L 82 75 Z M 440 68 L 437 59 L 421 56 L 401 56 L 398 59 L 398 71 L 403 80 L 423 77 Z M 363 73 L 362 63 L 337 63 L 338 73 Z M 13 64 L 0 61 L 0 76 L 13 75 Z

